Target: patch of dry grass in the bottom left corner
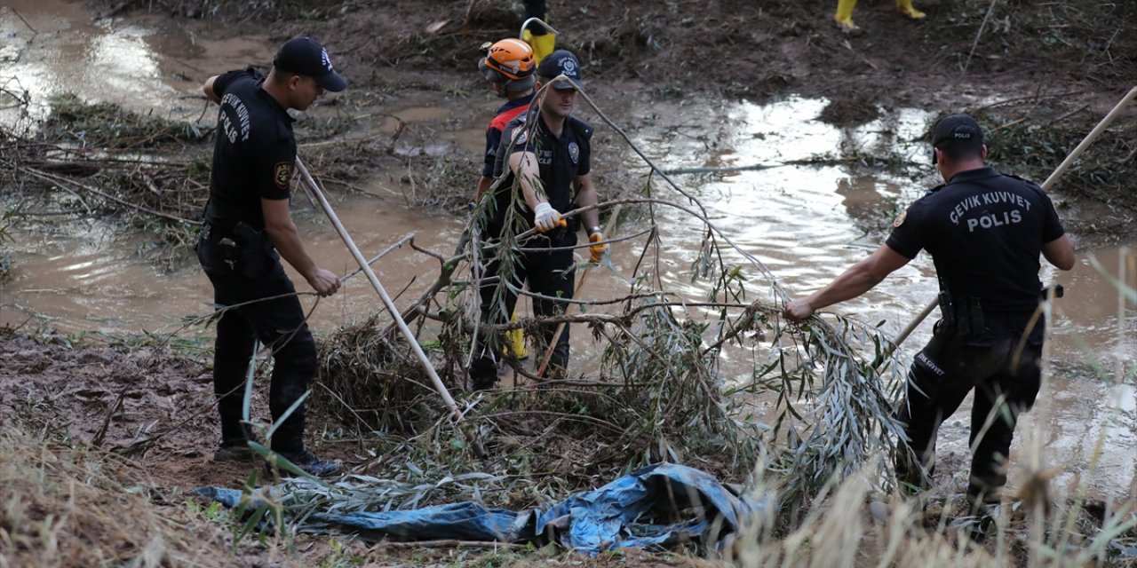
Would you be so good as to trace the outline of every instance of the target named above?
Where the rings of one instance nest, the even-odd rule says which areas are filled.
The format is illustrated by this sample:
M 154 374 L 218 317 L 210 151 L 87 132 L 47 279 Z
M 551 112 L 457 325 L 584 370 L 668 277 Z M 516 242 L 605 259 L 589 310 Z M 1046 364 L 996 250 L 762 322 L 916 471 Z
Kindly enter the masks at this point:
M 221 526 L 185 519 L 107 453 L 0 429 L 0 567 L 229 566 Z M 183 517 L 175 520 L 177 517 Z

